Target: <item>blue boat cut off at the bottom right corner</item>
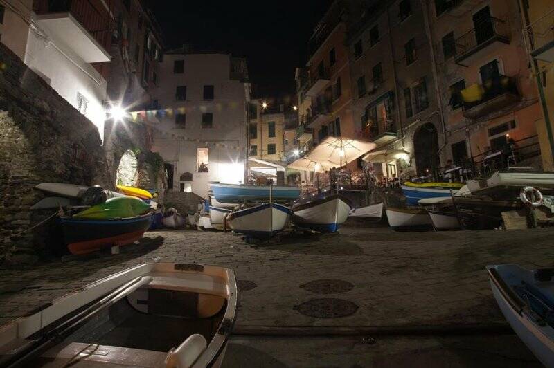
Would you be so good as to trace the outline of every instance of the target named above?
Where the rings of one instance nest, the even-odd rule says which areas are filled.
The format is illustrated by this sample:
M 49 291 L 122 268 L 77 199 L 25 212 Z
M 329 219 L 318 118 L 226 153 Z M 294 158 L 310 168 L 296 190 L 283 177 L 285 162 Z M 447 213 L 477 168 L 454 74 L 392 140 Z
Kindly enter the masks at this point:
M 546 367 L 554 367 L 554 269 L 487 266 L 492 295 L 504 317 Z

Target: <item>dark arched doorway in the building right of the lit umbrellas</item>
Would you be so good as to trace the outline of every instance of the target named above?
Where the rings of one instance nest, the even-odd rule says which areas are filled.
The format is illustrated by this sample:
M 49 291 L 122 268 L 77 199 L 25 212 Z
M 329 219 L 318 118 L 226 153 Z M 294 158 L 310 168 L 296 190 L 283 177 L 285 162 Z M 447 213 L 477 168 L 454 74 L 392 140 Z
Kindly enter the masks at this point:
M 415 167 L 418 176 L 434 174 L 440 166 L 438 158 L 438 132 L 431 122 L 425 123 L 413 136 Z

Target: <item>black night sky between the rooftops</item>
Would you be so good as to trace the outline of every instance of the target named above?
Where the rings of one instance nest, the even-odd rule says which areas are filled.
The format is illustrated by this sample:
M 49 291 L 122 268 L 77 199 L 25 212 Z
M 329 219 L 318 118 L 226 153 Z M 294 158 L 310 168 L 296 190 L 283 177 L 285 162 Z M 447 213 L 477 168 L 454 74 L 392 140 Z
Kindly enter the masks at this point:
M 246 57 L 253 97 L 295 92 L 294 68 L 307 62 L 307 42 L 331 0 L 149 0 L 166 49 L 190 44 Z

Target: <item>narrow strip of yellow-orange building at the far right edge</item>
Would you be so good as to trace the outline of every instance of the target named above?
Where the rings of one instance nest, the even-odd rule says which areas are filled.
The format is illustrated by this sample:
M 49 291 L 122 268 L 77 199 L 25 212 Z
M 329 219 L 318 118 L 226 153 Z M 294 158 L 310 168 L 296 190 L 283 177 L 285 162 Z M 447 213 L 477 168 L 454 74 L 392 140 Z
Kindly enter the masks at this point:
M 531 60 L 542 117 L 537 121 L 537 136 L 545 171 L 554 170 L 554 1 L 521 0 L 523 39 Z

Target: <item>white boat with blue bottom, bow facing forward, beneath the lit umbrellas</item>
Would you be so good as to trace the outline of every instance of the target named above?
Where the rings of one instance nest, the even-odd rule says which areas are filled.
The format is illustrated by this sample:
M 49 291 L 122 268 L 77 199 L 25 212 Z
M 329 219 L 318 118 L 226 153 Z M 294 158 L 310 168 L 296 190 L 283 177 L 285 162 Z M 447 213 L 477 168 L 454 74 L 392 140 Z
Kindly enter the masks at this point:
M 323 199 L 294 205 L 292 222 L 299 228 L 319 232 L 337 232 L 350 212 L 350 200 L 334 194 Z

